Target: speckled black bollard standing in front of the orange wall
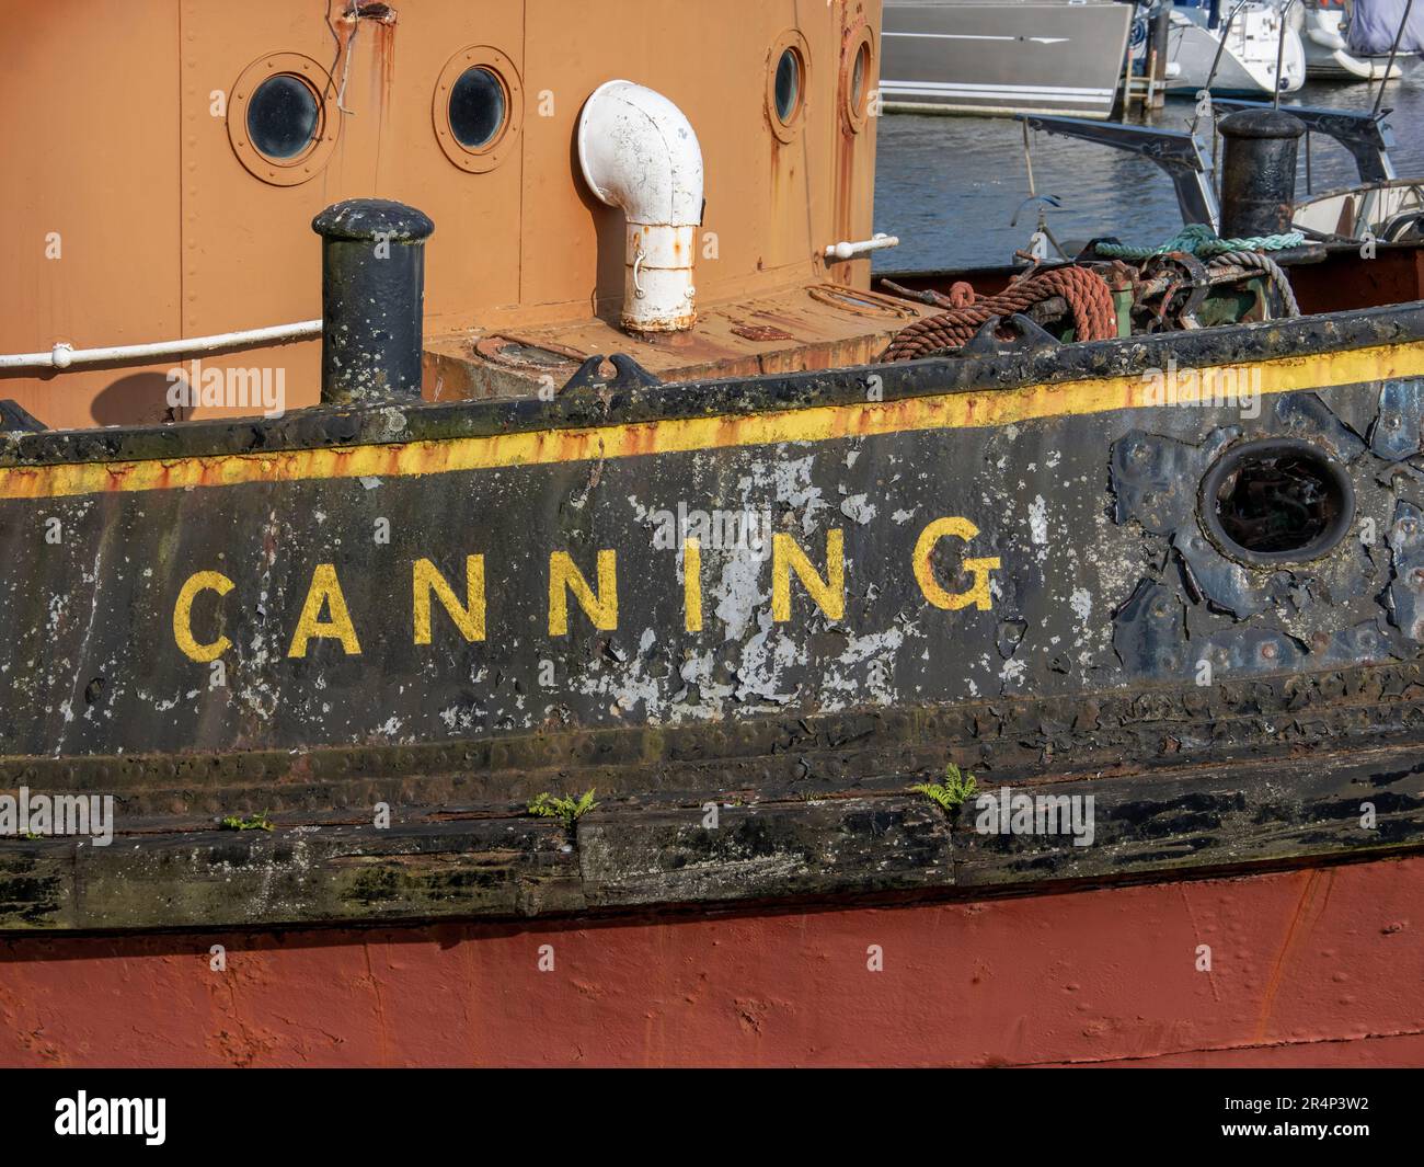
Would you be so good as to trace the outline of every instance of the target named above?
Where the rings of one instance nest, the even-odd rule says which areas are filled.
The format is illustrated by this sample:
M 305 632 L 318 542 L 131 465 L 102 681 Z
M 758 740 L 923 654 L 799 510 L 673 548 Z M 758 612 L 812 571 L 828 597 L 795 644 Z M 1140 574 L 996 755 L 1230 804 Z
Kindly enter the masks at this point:
M 336 202 L 322 237 L 322 402 L 420 399 L 429 215 L 384 198 Z

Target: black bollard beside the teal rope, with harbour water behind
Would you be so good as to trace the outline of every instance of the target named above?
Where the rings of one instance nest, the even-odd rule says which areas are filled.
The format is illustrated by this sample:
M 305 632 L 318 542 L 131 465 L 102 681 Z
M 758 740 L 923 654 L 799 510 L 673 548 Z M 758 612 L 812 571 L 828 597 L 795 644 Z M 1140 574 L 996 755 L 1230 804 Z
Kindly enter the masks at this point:
M 1296 201 L 1296 147 L 1306 127 L 1284 110 L 1239 110 L 1218 123 L 1223 239 L 1290 231 Z

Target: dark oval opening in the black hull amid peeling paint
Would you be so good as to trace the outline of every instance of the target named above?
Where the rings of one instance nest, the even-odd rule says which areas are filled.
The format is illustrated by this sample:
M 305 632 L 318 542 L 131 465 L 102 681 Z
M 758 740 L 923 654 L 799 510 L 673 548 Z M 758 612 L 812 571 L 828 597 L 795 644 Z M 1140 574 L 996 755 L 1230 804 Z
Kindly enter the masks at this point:
M 1202 479 L 1199 504 L 1212 541 L 1252 564 L 1319 559 L 1354 522 L 1354 487 L 1344 466 L 1293 437 L 1229 449 Z

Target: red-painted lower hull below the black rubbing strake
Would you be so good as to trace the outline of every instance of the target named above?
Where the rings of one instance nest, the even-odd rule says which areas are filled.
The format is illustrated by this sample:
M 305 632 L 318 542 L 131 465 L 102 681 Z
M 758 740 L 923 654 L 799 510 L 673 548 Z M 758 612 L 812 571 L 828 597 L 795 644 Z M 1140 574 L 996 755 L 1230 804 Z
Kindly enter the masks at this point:
M 9 939 L 0 1064 L 1398 1066 L 1424 1064 L 1421 990 L 1410 858 L 776 915 Z

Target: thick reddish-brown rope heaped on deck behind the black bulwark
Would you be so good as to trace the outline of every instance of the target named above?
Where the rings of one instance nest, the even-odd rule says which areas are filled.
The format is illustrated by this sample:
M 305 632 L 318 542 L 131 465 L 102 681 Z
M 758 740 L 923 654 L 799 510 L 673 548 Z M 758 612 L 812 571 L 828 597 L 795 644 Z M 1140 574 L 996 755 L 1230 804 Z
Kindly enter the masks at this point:
M 1109 341 L 1118 335 L 1118 309 L 1101 275 L 1091 268 L 1049 268 L 983 299 L 968 284 L 956 284 L 950 288 L 950 301 L 958 306 L 901 328 L 880 359 L 914 361 L 941 349 L 963 348 L 991 316 L 1010 316 L 1054 296 L 1068 304 L 1077 339 Z

